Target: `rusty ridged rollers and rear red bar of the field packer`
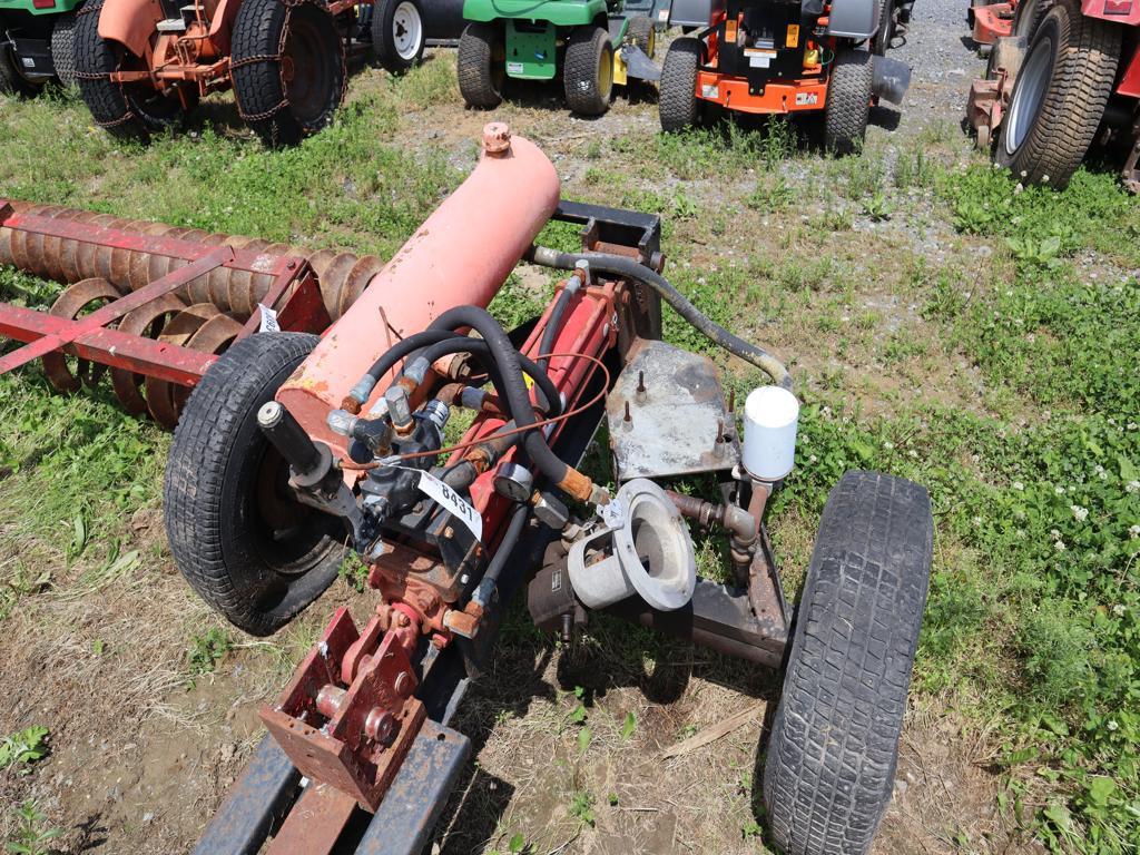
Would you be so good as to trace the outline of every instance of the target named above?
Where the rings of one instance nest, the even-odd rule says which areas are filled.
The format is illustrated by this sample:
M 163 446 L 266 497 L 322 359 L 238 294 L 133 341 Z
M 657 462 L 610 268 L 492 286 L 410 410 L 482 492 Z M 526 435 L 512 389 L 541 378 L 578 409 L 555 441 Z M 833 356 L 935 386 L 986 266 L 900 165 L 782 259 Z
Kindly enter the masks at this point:
M 259 238 L 58 205 L 0 202 L 0 263 L 67 283 L 49 311 L 66 321 L 79 321 L 100 307 L 177 274 L 195 258 L 221 246 L 237 253 L 234 263 L 219 264 L 189 278 L 127 312 L 107 328 L 217 357 L 243 335 L 251 318 L 256 316 L 254 323 L 260 321 L 258 307 L 274 302 L 271 292 L 283 267 L 290 269 L 287 266 L 292 264 L 294 272 L 302 267 L 309 270 L 309 288 L 315 286 L 320 303 L 311 307 L 300 326 L 291 328 L 321 332 L 348 310 L 384 266 L 376 255 L 304 251 Z M 253 328 L 256 327 L 250 332 Z M 28 341 L 27 336 L 9 329 L 3 332 Z M 63 392 L 96 385 L 109 365 L 112 389 L 123 408 L 135 415 L 149 414 L 166 427 L 178 422 L 189 393 L 184 381 L 115 365 L 113 359 L 92 361 L 55 350 L 41 360 L 48 380 Z

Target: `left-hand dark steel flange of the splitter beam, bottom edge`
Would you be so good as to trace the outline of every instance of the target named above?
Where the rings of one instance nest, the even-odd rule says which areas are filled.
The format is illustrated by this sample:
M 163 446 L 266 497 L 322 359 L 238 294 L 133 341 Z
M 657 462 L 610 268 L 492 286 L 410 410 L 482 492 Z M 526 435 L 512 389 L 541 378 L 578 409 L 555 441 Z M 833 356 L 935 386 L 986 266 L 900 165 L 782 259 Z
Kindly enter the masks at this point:
M 193 855 L 254 855 L 296 797 L 301 773 L 272 738 L 261 740 Z

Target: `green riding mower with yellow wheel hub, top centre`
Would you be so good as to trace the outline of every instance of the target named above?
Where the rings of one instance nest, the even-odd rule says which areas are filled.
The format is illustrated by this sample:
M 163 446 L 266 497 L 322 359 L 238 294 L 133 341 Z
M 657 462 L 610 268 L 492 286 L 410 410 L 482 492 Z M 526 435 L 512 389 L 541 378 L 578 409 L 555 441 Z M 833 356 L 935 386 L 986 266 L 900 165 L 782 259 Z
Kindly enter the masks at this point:
M 654 21 L 668 21 L 668 0 L 464 0 L 463 17 L 459 91 L 472 107 L 497 107 L 508 78 L 561 75 L 571 112 L 598 116 L 614 85 L 661 78 Z

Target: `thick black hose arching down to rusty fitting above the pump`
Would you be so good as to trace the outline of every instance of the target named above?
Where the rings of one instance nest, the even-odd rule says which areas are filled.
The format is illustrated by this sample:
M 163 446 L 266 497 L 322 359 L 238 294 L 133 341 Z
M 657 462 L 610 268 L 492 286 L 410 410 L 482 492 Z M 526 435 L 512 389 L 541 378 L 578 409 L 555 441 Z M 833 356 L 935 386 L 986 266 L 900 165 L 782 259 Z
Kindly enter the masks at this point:
M 502 394 L 511 417 L 520 427 L 529 427 L 535 424 L 536 418 L 534 407 L 530 402 L 530 392 L 527 390 L 527 384 L 522 378 L 522 365 L 519 360 L 520 353 L 511 343 L 506 331 L 503 329 L 499 323 L 486 309 L 480 309 L 478 306 L 457 306 L 435 318 L 429 329 L 456 329 L 464 327 L 470 327 L 478 332 L 487 343 L 490 356 L 499 369 L 499 378 L 503 382 Z M 522 441 L 523 448 L 527 449 L 539 472 L 551 479 L 561 489 L 567 489 L 567 477 L 571 474 L 572 470 L 565 461 L 560 459 L 551 450 L 542 431 L 527 431 Z M 583 479 L 580 475 L 579 479 L 588 484 L 588 479 Z

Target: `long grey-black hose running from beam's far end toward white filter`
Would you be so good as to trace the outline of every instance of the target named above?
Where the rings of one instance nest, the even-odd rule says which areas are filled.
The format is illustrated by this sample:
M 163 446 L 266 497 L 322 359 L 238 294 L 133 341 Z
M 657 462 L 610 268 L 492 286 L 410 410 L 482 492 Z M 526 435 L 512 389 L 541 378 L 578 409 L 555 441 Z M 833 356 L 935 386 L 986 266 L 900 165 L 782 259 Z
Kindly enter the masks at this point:
M 636 279 L 660 294 L 661 299 L 671 306 L 681 317 L 708 336 L 714 344 L 755 365 L 772 377 L 775 383 L 791 391 L 791 374 L 788 373 L 783 363 L 763 348 L 758 348 L 733 335 L 719 324 L 715 324 L 689 302 L 689 299 L 670 285 L 663 276 L 638 263 L 635 259 L 605 252 L 559 252 L 546 246 L 530 247 L 526 259 L 536 264 L 559 270 L 572 270 L 575 262 L 585 259 L 595 270 Z

